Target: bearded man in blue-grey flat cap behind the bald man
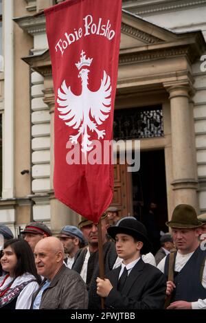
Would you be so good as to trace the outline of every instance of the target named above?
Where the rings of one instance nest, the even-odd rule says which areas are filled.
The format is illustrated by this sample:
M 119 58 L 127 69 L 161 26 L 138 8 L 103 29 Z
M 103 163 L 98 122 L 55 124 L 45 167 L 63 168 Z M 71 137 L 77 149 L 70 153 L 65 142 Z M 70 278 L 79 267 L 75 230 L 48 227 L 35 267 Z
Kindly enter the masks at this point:
M 67 254 L 65 265 L 71 269 L 76 253 L 85 245 L 84 236 L 78 227 L 65 225 L 65 227 L 62 227 L 62 230 L 57 237 L 62 242 L 65 254 Z

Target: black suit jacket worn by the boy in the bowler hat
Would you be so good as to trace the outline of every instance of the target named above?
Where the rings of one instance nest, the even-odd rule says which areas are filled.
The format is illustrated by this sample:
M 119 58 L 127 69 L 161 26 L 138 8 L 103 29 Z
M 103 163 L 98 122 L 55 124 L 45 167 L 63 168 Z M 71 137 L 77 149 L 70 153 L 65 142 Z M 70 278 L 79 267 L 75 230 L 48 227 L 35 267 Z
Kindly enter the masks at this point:
M 121 266 L 107 275 L 113 285 L 105 300 L 108 309 L 163 309 L 166 280 L 159 269 L 139 259 L 119 292 L 117 282 L 120 269 Z

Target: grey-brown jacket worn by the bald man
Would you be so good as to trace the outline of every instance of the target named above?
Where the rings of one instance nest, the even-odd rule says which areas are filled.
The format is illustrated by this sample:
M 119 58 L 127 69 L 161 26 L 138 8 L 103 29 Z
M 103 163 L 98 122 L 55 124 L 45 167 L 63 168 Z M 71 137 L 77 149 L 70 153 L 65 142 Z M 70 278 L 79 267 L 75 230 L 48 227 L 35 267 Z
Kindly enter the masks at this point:
M 45 280 L 32 297 L 31 309 L 44 282 Z M 87 307 L 88 293 L 84 281 L 76 271 L 62 265 L 49 287 L 43 291 L 40 309 L 87 309 Z

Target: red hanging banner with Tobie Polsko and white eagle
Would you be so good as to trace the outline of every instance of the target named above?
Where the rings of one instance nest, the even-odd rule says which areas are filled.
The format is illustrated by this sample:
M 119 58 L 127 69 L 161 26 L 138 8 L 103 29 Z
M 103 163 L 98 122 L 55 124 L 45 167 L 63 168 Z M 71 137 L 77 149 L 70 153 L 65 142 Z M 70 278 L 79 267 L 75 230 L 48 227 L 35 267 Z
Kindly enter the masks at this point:
M 108 144 L 122 0 L 68 0 L 45 16 L 55 93 L 55 196 L 97 223 L 113 198 Z

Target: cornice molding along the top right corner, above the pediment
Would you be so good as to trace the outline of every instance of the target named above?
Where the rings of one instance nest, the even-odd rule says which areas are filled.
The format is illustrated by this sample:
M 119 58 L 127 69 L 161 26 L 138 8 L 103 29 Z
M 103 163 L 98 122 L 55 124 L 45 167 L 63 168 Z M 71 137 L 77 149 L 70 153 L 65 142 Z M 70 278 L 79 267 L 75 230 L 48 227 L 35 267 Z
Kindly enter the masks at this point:
M 166 11 L 184 10 L 205 5 L 206 0 L 166 0 L 166 1 L 123 1 L 122 8 L 141 16 Z

